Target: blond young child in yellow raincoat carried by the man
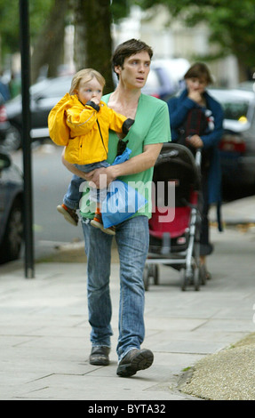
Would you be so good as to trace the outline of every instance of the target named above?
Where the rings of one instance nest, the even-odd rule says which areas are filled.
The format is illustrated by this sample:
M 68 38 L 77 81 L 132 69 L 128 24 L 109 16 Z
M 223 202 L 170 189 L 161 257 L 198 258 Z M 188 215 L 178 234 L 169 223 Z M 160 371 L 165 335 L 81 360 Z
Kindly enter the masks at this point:
M 57 103 L 48 118 L 52 141 L 65 146 L 65 159 L 84 173 L 108 166 L 108 130 L 127 134 L 134 123 L 132 119 L 116 113 L 101 101 L 105 83 L 104 77 L 92 68 L 78 71 L 73 77 L 70 92 Z M 79 206 L 79 188 L 83 181 L 84 179 L 74 175 L 63 204 L 57 207 L 65 219 L 74 225 L 78 223 L 76 209 Z M 103 227 L 99 199 L 91 223 L 94 227 L 115 235 L 114 227 Z

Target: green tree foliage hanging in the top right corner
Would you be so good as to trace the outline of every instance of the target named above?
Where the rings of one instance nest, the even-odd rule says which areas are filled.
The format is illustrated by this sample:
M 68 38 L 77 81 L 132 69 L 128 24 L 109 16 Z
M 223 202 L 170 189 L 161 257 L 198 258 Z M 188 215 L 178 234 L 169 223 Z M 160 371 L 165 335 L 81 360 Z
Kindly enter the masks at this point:
M 211 29 L 211 44 L 219 46 L 217 55 L 205 57 L 216 59 L 234 54 L 243 71 L 254 71 L 255 51 L 255 2 L 254 0 L 132 0 L 142 8 L 156 4 L 168 7 L 172 19 L 178 17 L 189 27 L 206 22 Z

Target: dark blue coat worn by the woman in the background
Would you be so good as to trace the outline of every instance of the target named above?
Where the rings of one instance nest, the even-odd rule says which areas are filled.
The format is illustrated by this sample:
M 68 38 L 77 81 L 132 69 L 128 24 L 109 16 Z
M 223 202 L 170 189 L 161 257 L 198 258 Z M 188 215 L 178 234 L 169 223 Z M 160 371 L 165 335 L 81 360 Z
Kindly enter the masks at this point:
M 208 92 L 204 92 L 206 108 L 211 110 L 214 117 L 214 129 L 210 133 L 201 135 L 204 149 L 212 149 L 211 166 L 208 175 L 208 203 L 221 203 L 221 170 L 219 160 L 219 141 L 223 133 L 224 113 L 221 105 L 214 100 Z M 171 124 L 171 141 L 177 141 L 179 137 L 179 127 L 183 125 L 187 112 L 193 108 L 199 108 L 199 105 L 187 97 L 187 89 L 168 101 L 168 109 Z M 220 228 L 220 226 L 219 226 Z

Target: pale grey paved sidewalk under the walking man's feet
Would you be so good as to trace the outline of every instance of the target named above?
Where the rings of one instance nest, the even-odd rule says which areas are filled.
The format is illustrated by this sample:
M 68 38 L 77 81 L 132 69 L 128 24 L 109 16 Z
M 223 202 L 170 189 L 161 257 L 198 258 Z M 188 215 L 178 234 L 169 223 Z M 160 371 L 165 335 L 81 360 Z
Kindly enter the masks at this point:
M 254 199 L 250 203 L 252 210 Z M 239 216 L 240 207 L 235 212 Z M 224 213 L 227 215 L 227 207 L 223 211 L 226 219 Z M 168 400 L 210 398 L 211 394 L 208 397 L 208 392 L 205 393 L 204 380 L 202 390 L 201 387 L 187 390 L 184 371 L 255 332 L 252 228 L 252 225 L 248 230 L 227 227 L 224 233 L 211 229 L 215 245 L 209 258 L 212 278 L 199 292 L 193 288 L 182 292 L 179 274 L 160 267 L 159 285 L 150 284 L 146 293 L 144 347 L 154 351 L 155 361 L 149 369 L 131 378 L 116 375 L 119 293 L 116 258 L 111 274 L 113 349 L 110 366 L 105 367 L 91 366 L 88 362 L 91 345 L 85 263 L 39 262 L 34 279 L 24 278 L 20 261 L 0 266 L 0 398 L 80 399 L 93 406 L 92 401 L 154 400 L 163 404 Z M 239 379 L 238 390 L 226 370 L 222 368 L 224 374 L 218 376 L 219 383 L 222 377 L 230 388 L 228 396 L 240 398 L 247 389 L 249 370 L 244 374 L 243 366 L 246 355 L 254 358 L 251 347 L 247 354 L 243 351 L 243 362 L 236 363 L 234 377 L 231 375 L 232 381 Z M 251 373 L 254 376 L 253 370 Z M 211 374 L 207 373 L 206 379 L 210 382 Z M 180 382 L 184 383 L 181 390 Z M 214 398 L 222 396 L 222 387 L 219 384 Z M 255 391 L 249 391 L 248 396 L 255 399 Z

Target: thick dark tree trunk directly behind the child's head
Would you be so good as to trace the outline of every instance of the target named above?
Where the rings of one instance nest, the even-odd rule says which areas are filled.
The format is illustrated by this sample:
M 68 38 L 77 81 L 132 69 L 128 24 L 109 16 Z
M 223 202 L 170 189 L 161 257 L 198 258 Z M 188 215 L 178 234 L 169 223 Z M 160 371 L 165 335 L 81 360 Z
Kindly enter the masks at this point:
M 110 0 L 72 0 L 76 69 L 94 68 L 106 78 L 104 92 L 114 89 Z

